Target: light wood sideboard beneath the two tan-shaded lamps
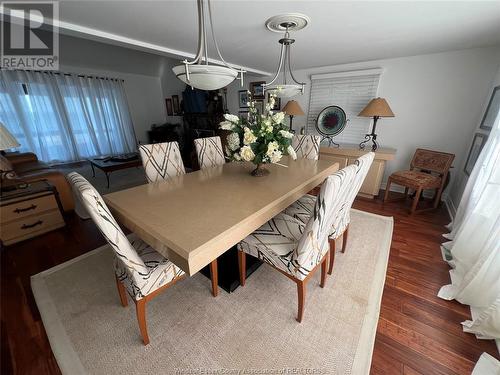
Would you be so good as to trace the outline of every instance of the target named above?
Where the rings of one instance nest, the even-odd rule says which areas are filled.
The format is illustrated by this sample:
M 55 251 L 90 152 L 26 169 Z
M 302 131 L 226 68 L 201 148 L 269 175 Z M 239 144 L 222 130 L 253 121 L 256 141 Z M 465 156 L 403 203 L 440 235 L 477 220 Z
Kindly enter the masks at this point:
M 358 145 L 340 145 L 340 147 L 321 147 L 319 150 L 319 158 L 334 160 L 339 163 L 340 168 L 344 168 L 361 155 L 367 153 L 370 149 L 360 150 Z M 385 164 L 387 161 L 394 159 L 396 150 L 392 148 L 379 148 L 375 151 L 375 159 L 372 166 L 366 175 L 363 185 L 359 190 L 358 195 L 365 198 L 375 198 L 382 184 L 384 177 Z

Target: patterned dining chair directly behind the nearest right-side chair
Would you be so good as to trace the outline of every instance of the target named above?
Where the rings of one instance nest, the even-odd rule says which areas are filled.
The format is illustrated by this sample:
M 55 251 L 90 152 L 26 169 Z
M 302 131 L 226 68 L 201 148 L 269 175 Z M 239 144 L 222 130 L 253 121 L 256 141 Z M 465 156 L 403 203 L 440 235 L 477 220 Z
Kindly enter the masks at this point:
M 365 180 L 366 175 L 372 165 L 375 153 L 368 152 L 354 162 L 356 167 L 356 174 L 349 191 L 343 197 L 338 197 L 342 200 L 343 209 L 338 212 L 338 215 L 333 221 L 333 225 L 330 230 L 330 261 L 328 265 L 328 273 L 331 275 L 333 272 L 333 263 L 335 260 L 335 241 L 342 236 L 342 253 L 345 252 L 347 247 L 347 238 L 349 235 L 349 224 L 351 223 L 351 207 L 358 195 L 359 189 Z M 293 216 L 294 218 L 306 223 L 311 217 L 314 205 L 316 203 L 316 197 L 314 195 L 306 194 L 295 203 L 290 205 L 283 211 L 285 214 Z

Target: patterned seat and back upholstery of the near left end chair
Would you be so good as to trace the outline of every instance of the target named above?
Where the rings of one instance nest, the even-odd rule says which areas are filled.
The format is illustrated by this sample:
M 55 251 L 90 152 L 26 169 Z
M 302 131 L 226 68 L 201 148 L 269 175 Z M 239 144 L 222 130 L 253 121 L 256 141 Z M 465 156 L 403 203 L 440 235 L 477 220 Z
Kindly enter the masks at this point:
M 76 172 L 71 172 L 67 178 L 79 192 L 87 212 L 113 249 L 116 276 L 132 298 L 139 300 L 184 274 L 135 234 L 127 238 L 101 195 L 85 178 Z

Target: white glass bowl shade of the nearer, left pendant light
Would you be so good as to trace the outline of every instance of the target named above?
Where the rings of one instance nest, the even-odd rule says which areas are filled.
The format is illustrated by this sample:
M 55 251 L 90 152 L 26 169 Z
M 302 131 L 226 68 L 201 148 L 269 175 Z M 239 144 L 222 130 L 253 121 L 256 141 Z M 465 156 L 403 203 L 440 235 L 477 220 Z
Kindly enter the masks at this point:
M 218 90 L 233 82 L 238 75 L 234 69 L 218 65 L 189 65 L 189 81 L 186 75 L 186 65 L 172 68 L 174 74 L 182 82 L 200 90 Z

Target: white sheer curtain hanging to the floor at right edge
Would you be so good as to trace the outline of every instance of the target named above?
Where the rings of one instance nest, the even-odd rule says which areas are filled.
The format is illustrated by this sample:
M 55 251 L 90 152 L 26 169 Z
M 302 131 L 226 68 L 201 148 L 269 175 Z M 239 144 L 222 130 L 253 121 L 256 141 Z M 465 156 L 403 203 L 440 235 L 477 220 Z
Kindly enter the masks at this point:
M 452 270 L 451 284 L 438 296 L 470 305 L 465 332 L 500 338 L 500 113 L 469 176 L 464 194 L 445 235 L 443 257 Z

